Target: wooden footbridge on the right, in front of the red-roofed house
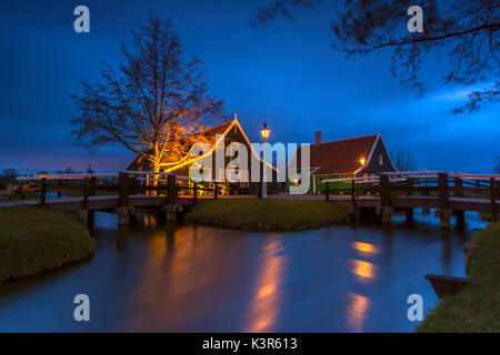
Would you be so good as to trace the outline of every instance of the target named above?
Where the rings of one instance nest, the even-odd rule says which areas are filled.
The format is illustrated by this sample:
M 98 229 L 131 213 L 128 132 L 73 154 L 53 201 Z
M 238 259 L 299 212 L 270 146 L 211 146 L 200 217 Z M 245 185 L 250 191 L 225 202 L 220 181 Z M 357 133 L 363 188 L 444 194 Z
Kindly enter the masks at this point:
M 442 229 L 449 230 L 452 217 L 466 226 L 467 211 L 499 215 L 500 175 L 474 175 L 446 172 L 389 172 L 381 175 L 323 180 L 326 200 L 348 206 L 356 217 L 372 213 L 390 223 L 397 212 L 404 212 L 413 223 L 413 209 L 436 209 Z M 350 189 L 330 189 L 331 183 L 351 182 Z M 332 194 L 346 196 L 332 196 Z

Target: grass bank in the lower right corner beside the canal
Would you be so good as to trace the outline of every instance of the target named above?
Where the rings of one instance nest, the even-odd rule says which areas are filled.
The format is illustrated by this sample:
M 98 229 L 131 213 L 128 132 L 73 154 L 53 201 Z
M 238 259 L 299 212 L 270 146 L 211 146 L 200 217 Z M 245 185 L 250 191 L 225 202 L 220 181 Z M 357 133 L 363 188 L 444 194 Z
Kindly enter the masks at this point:
M 478 231 L 467 255 L 469 277 L 480 281 L 443 298 L 417 332 L 500 332 L 500 222 Z

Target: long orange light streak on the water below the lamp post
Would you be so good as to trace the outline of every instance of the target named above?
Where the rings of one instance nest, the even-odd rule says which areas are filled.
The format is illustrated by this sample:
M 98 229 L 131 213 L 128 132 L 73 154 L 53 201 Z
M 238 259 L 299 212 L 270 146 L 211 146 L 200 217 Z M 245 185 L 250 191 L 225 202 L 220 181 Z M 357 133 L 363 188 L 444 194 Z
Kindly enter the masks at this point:
M 262 250 L 260 268 L 254 285 L 253 298 L 248 312 L 247 332 L 273 332 L 282 302 L 280 288 L 283 280 L 286 258 L 279 253 L 282 250 L 281 236 L 266 240 Z

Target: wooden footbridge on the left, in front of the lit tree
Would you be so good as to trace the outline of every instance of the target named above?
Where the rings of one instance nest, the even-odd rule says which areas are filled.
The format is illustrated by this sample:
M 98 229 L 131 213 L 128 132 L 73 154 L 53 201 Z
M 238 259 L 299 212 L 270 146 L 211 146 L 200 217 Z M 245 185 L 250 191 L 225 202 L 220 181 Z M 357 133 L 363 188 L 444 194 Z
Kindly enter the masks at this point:
M 226 189 L 217 182 L 197 184 L 187 176 L 137 171 L 38 175 L 18 180 L 21 182 L 21 201 L 0 203 L 0 206 L 39 205 L 49 210 L 74 212 L 86 221 L 89 229 L 94 225 L 96 211 L 117 213 L 120 225 L 133 222 L 139 209 L 149 210 L 158 217 L 171 221 L 178 213 L 194 205 L 198 199 L 218 199 Z M 207 184 L 208 187 L 204 186 Z M 39 199 L 26 200 L 30 192 L 38 193 Z M 57 197 L 48 199 L 48 193 L 57 193 Z M 74 194 L 77 196 L 71 196 Z

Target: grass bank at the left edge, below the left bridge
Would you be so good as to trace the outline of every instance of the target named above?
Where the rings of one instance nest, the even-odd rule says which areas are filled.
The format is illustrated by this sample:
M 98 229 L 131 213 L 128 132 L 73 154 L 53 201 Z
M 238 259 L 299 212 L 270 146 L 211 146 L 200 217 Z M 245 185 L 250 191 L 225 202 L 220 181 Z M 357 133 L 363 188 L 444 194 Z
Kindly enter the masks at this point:
M 96 241 L 72 214 L 0 207 L 0 284 L 58 268 L 94 251 Z

